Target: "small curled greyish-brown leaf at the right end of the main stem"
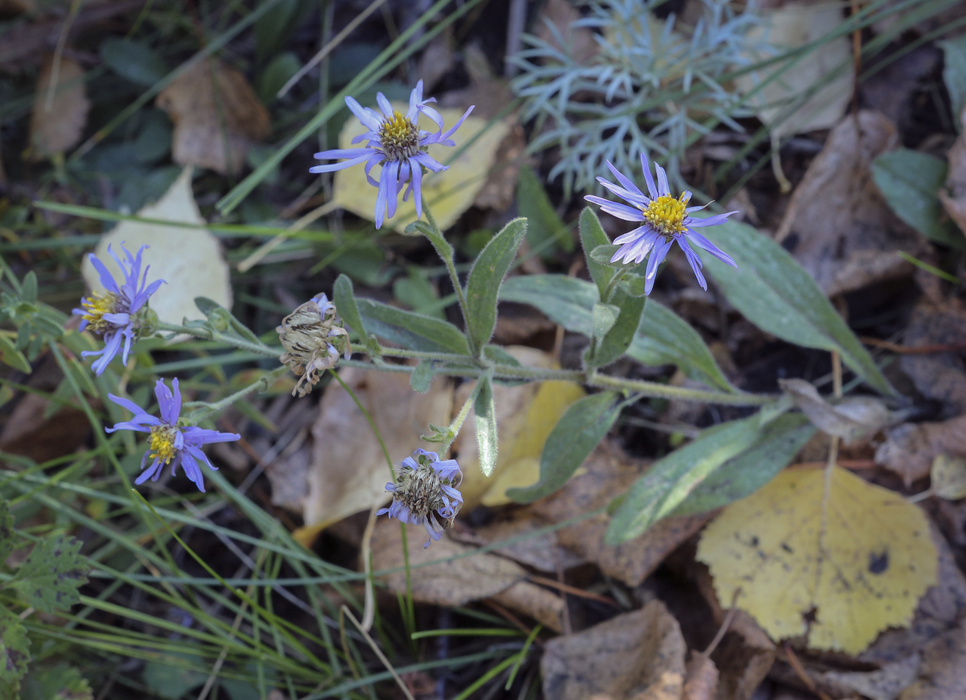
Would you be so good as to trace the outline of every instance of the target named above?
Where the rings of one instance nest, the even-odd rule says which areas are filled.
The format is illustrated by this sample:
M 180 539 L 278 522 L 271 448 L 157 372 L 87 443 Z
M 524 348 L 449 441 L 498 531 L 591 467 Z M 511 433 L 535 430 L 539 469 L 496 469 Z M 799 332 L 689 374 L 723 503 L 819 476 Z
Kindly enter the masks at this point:
M 833 406 L 804 379 L 779 379 L 779 386 L 815 427 L 838 435 L 846 445 L 865 442 L 892 422 L 889 409 L 877 399 L 856 397 Z

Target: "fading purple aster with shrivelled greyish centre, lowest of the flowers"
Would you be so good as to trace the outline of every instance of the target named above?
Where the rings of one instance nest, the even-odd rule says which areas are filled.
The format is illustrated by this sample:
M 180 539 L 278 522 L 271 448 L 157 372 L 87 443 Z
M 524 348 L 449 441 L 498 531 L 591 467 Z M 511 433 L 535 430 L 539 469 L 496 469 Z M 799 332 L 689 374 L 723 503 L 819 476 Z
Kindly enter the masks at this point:
M 385 490 L 393 494 L 392 503 L 376 515 L 388 513 L 389 518 L 425 527 L 430 537 L 425 548 L 430 541 L 439 542 L 443 530 L 452 526 L 463 506 L 463 494 L 456 490 L 462 481 L 463 472 L 456 460 L 440 460 L 435 452 L 416 450 L 403 460 L 395 483 L 385 485 Z M 440 525 L 437 514 L 444 524 Z

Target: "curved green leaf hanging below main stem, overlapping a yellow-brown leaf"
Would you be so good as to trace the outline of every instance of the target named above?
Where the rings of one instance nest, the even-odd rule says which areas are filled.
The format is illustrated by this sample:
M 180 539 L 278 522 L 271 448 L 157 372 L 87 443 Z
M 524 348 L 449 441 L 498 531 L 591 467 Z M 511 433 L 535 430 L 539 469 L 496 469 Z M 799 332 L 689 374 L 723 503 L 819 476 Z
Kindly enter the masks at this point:
M 540 480 L 526 489 L 509 489 L 506 495 L 530 503 L 562 487 L 611 430 L 620 412 L 620 406 L 614 404 L 616 399 L 616 392 L 602 391 L 567 408 L 544 444 Z

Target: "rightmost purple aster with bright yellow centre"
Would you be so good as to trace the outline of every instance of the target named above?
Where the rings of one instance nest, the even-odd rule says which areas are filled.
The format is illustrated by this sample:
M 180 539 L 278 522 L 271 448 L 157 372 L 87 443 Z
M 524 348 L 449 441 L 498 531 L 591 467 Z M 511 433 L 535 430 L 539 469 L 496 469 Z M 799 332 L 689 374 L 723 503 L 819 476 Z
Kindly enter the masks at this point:
M 644 154 L 640 154 L 640 165 L 644 169 L 644 182 L 647 182 L 647 191 L 650 196 L 641 192 L 634 182 L 631 182 L 629 178 L 613 167 L 610 160 L 607 165 L 611 168 L 611 173 L 613 173 L 617 182 L 620 182 L 620 185 L 604 178 L 598 178 L 597 182 L 603 184 L 632 206 L 628 207 L 625 204 L 611 202 L 611 200 L 593 195 L 587 195 L 583 199 L 600 205 L 602 210 L 617 218 L 625 221 L 644 222 L 639 228 L 613 239 L 613 242 L 621 247 L 611 258 L 611 263 L 622 260 L 623 263 L 639 264 L 647 257 L 648 253 L 650 254 L 644 272 L 644 294 L 651 293 L 658 266 L 668 255 L 668 250 L 675 240 L 688 258 L 688 263 L 695 271 L 697 283 L 701 285 L 703 290 L 708 289 L 708 283 L 704 281 L 704 275 L 701 274 L 701 259 L 697 257 L 693 245 L 703 248 L 723 263 L 734 267 L 738 266 L 718 246 L 695 231 L 702 226 L 723 224 L 728 216 L 738 213 L 737 211 L 728 211 L 704 219 L 691 216 L 690 214 L 693 211 L 702 210 L 704 207 L 688 207 L 688 202 L 691 200 L 691 192 L 688 190 L 682 192 L 680 197 L 672 197 L 668 188 L 668 175 L 664 168 L 657 163 L 654 164 L 658 174 L 658 182 L 655 186 L 654 179 L 651 177 L 650 166 Z

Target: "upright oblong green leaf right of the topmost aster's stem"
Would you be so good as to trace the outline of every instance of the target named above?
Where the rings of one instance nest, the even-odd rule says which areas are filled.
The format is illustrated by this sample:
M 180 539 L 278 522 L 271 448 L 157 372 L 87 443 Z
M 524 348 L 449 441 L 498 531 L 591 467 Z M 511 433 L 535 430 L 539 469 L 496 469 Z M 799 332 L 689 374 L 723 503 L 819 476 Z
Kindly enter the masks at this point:
M 479 351 L 497 327 L 497 296 L 503 278 L 526 236 L 526 219 L 514 219 L 491 238 L 476 258 L 467 278 L 467 329 L 474 351 Z

